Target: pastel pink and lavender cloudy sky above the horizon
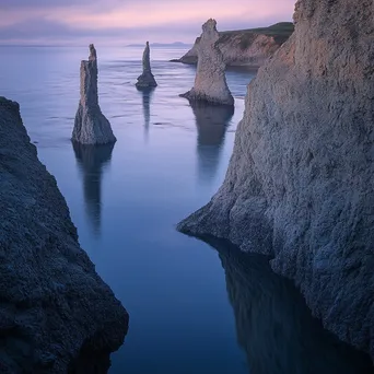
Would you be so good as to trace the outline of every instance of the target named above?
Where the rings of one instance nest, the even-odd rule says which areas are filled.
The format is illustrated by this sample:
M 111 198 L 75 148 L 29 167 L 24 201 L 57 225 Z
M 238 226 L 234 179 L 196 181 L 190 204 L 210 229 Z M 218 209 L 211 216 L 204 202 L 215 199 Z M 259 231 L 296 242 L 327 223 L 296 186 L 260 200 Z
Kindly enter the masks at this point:
M 218 30 L 292 21 L 295 0 L 0 0 L 0 45 L 192 43 Z

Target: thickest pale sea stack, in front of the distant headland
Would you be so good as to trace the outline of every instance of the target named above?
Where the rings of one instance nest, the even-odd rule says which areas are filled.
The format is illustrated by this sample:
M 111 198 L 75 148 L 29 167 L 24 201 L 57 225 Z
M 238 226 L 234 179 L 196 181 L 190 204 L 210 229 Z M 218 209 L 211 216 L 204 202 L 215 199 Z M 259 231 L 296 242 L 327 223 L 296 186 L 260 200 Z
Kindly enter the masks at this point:
M 208 20 L 202 25 L 200 43 L 197 45 L 198 65 L 194 87 L 182 94 L 189 101 L 202 101 L 213 104 L 234 105 L 226 77 L 225 63 L 221 50 L 217 46 L 220 35 L 215 20 Z

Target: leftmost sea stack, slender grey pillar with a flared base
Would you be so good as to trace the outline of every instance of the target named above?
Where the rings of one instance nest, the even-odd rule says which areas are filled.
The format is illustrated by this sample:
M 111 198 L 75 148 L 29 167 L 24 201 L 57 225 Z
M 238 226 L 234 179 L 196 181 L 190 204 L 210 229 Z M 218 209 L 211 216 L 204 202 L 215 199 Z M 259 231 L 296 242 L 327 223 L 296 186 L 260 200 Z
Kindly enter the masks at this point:
M 89 60 L 81 61 L 81 98 L 71 140 L 81 144 L 106 144 L 117 140 L 98 106 L 97 57 L 93 44 L 90 44 Z

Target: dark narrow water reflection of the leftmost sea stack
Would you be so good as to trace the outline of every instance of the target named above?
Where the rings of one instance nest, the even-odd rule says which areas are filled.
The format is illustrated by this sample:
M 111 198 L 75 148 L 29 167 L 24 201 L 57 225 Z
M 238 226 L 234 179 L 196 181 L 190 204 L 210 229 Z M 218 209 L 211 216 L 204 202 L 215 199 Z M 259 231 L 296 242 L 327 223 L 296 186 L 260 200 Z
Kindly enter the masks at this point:
M 78 165 L 83 174 L 85 211 L 93 233 L 100 236 L 103 167 L 110 162 L 114 143 L 86 145 L 73 142 L 72 144 Z

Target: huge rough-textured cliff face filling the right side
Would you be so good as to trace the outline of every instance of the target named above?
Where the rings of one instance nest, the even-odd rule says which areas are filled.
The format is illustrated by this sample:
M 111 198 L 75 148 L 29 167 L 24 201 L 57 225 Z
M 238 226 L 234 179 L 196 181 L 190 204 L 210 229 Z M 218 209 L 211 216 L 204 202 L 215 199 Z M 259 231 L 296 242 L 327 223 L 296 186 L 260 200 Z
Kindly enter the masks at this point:
M 273 256 L 313 314 L 374 359 L 374 10 L 297 1 L 250 82 L 225 180 L 178 229 Z

